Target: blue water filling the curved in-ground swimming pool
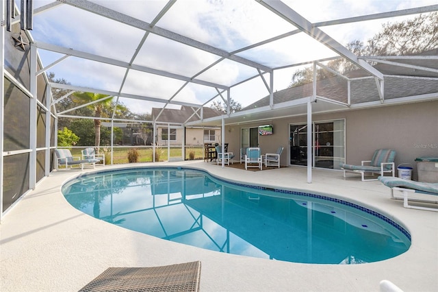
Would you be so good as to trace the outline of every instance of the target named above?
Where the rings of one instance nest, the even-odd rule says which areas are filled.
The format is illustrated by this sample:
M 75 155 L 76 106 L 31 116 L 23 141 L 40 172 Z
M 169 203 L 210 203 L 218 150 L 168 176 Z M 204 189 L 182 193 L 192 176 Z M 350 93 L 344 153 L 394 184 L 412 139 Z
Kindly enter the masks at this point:
M 62 193 L 82 212 L 161 239 L 295 263 L 358 264 L 406 252 L 398 223 L 339 199 L 231 184 L 204 171 L 81 175 Z

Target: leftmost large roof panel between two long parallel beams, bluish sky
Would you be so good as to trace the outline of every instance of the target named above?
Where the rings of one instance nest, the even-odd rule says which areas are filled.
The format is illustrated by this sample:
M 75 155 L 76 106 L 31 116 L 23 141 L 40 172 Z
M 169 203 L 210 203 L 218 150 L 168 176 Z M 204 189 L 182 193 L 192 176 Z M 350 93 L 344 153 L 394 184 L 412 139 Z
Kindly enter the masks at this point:
M 144 32 L 70 5 L 58 5 L 34 16 L 31 34 L 36 42 L 128 62 Z

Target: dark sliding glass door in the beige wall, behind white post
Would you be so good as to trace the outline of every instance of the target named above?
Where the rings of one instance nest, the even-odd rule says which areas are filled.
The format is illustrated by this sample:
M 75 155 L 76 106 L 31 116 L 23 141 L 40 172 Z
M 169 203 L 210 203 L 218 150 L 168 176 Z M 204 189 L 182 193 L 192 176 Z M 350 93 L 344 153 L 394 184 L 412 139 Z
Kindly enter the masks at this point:
M 345 157 L 345 121 L 315 122 L 312 125 L 313 167 L 339 169 Z M 289 125 L 291 165 L 307 165 L 307 125 Z

